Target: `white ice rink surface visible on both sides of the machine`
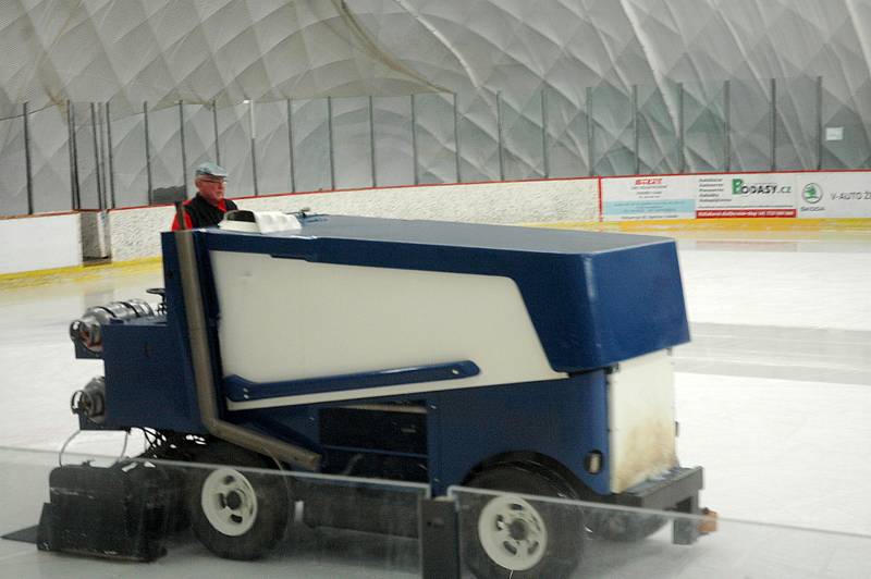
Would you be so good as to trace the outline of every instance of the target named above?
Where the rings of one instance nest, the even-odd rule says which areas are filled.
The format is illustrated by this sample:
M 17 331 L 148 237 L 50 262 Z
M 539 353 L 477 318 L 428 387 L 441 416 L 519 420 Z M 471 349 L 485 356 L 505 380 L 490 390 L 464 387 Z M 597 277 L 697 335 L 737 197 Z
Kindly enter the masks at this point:
M 678 453 L 706 468 L 702 505 L 871 535 L 871 232 L 670 234 L 692 334 L 674 352 Z M 60 448 L 72 392 L 101 373 L 74 359 L 70 321 L 160 285 L 157 263 L 0 282 L 0 446 Z M 122 444 L 86 433 L 70 447 Z

